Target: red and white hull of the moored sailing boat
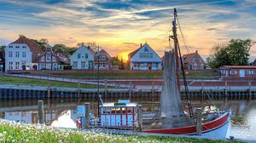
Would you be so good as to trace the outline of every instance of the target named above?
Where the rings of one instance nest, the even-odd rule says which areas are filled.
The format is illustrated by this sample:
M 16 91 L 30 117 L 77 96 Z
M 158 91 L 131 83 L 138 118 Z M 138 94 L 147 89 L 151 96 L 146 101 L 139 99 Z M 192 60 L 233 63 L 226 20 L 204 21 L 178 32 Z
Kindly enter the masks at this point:
M 224 112 L 220 117 L 212 120 L 211 122 L 202 123 L 201 134 L 208 138 L 225 138 L 230 123 L 230 117 L 228 112 Z M 159 134 L 187 134 L 195 135 L 196 126 L 185 126 L 172 129 L 146 129 L 143 130 L 146 133 L 159 133 Z

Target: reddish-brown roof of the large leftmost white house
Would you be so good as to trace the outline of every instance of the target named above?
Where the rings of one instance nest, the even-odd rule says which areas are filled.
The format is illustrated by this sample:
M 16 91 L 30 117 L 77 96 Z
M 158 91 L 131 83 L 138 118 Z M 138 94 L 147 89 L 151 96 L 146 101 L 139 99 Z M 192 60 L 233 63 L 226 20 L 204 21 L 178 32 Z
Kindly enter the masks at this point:
M 28 46 L 28 48 L 32 51 L 33 54 L 42 54 L 44 51 L 39 47 L 38 43 L 35 40 L 29 39 L 24 36 L 20 36 L 15 42 L 13 43 L 23 43 Z

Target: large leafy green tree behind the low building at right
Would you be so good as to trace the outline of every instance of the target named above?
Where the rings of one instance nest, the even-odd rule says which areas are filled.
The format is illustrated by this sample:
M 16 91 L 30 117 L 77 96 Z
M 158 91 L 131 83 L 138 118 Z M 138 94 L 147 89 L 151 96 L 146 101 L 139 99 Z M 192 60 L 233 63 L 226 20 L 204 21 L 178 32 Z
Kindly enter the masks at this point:
M 227 44 L 220 44 L 212 48 L 213 55 L 207 58 L 207 66 L 246 66 L 249 61 L 249 50 L 253 46 L 251 39 L 231 39 Z

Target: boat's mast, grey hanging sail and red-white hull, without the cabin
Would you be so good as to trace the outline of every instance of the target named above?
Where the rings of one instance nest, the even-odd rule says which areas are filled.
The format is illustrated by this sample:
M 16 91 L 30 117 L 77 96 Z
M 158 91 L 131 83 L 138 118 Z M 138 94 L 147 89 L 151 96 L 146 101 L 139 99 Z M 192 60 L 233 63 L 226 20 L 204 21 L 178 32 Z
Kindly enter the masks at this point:
M 189 89 L 183 69 L 183 59 L 177 39 L 177 10 L 174 9 L 172 20 L 172 40 L 174 49 L 165 52 L 163 86 L 160 95 L 160 111 L 154 117 L 143 119 L 143 132 L 160 134 L 196 135 L 195 108 L 192 107 Z M 180 81 L 180 70 L 183 81 Z M 181 87 L 183 82 L 183 87 Z M 181 100 L 180 90 L 184 89 L 185 103 Z M 230 113 L 214 110 L 201 113 L 201 133 L 208 138 L 224 139 L 230 123 Z M 199 121 L 199 119 L 198 119 Z

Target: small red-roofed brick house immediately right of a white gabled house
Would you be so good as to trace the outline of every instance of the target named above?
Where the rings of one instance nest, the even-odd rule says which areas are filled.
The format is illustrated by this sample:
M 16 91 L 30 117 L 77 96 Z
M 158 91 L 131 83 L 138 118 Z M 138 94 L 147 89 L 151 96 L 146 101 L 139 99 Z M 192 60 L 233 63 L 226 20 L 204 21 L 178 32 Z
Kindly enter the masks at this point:
M 99 58 L 99 69 L 106 69 L 109 70 L 112 68 L 112 63 L 111 63 L 111 57 L 108 54 L 108 52 L 106 52 L 106 50 L 102 49 L 99 54 L 96 54 L 95 56 L 95 68 L 98 67 L 98 59 Z

